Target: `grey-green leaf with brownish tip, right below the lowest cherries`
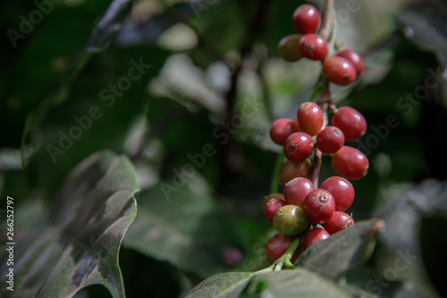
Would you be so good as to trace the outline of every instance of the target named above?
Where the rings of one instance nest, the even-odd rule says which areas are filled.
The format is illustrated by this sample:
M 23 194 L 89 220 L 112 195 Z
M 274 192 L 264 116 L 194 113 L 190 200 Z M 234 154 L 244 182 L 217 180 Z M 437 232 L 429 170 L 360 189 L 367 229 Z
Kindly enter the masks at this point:
M 377 234 L 384 231 L 384 226 L 381 219 L 358 222 L 313 244 L 299 257 L 297 265 L 338 280 L 348 268 L 369 258 Z

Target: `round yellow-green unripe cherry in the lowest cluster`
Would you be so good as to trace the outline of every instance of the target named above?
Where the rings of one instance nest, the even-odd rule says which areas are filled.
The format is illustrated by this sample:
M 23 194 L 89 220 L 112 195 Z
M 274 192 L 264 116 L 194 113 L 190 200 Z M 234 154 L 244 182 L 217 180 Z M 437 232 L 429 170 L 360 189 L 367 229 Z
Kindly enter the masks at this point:
M 295 205 L 285 205 L 274 215 L 274 228 L 286 236 L 302 233 L 309 224 L 304 210 Z

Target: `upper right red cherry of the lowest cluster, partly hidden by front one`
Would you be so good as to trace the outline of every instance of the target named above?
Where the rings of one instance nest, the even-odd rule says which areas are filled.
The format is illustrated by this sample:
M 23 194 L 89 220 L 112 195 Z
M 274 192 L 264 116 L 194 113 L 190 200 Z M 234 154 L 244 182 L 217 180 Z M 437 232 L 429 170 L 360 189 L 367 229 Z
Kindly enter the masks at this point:
M 322 190 L 331 192 L 333 200 L 335 200 L 335 210 L 344 211 L 350 207 L 354 200 L 355 192 L 352 184 L 338 176 L 327 178 L 325 182 L 320 185 Z

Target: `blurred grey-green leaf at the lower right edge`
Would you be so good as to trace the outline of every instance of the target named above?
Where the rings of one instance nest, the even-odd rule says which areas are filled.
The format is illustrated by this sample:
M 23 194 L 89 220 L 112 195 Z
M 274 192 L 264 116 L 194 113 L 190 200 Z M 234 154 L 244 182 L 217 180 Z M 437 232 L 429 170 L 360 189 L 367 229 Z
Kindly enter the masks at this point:
M 436 266 L 438 259 L 434 251 L 443 248 L 433 242 L 442 238 L 437 229 L 439 226 L 434 226 L 428 232 L 425 228 L 421 229 L 421 222 L 425 227 L 426 221 L 422 221 L 423 217 L 446 217 L 447 183 L 425 180 L 420 184 L 394 184 L 384 189 L 382 201 L 383 205 L 376 210 L 375 216 L 383 218 L 388 228 L 380 236 L 383 245 L 378 257 L 378 271 L 386 277 L 392 272 L 393 280 L 405 280 L 412 284 L 415 287 L 413 291 L 420 296 L 438 297 L 427 274 L 427 268 Z M 430 242 L 426 239 L 421 241 L 421 238 L 429 238 Z M 421 253 L 421 243 L 428 246 L 425 247 L 426 253 L 435 258 L 432 261 L 428 258 L 428 264 L 425 264 L 427 259 Z M 442 270 L 443 265 L 438 266 L 438 270 Z

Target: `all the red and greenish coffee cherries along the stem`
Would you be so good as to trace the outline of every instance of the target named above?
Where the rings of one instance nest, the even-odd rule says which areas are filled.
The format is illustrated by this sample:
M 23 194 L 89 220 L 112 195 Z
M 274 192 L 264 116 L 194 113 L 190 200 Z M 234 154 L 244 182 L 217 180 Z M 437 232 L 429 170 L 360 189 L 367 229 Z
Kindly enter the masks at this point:
M 300 5 L 292 20 L 299 34 L 280 41 L 279 53 L 284 60 L 294 62 L 306 57 L 321 61 L 325 80 L 342 86 L 355 81 L 364 71 L 361 56 L 352 49 L 328 56 L 327 42 L 317 34 L 322 18 L 314 6 Z M 278 260 L 297 238 L 300 242 L 291 262 L 313 243 L 354 225 L 352 216 L 345 212 L 355 196 L 349 180 L 367 175 L 369 163 L 361 151 L 345 142 L 359 140 L 367 131 L 367 122 L 350 106 L 337 109 L 330 101 L 321 105 L 325 111 L 314 102 L 305 102 L 299 106 L 296 119 L 278 119 L 270 129 L 271 139 L 283 146 L 286 158 L 279 172 L 283 192 L 272 193 L 264 200 L 266 219 L 278 232 L 266 244 L 270 263 Z M 321 162 L 322 157 L 331 158 L 337 175 L 318 186 L 315 171 L 320 165 L 316 158 Z

